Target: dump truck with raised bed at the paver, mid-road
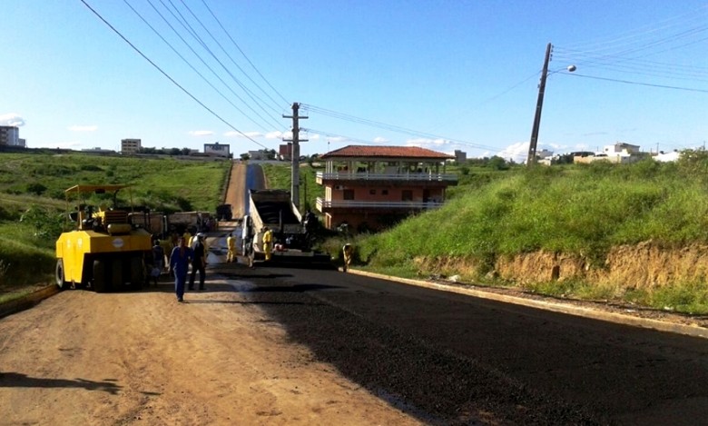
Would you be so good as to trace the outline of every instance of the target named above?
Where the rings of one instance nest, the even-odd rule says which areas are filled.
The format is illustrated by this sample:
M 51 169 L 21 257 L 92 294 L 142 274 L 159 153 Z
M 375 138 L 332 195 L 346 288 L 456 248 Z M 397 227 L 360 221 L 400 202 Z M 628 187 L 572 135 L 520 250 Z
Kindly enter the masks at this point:
M 290 200 L 290 191 L 265 189 L 249 191 L 249 212 L 243 217 L 244 234 L 252 237 L 253 256 L 265 259 L 263 233 L 267 226 L 273 233 L 273 261 L 306 261 L 329 263 L 330 256 L 312 250 L 313 235 L 303 223 L 297 206 Z M 246 240 L 243 240 L 243 244 Z M 241 253 L 248 253 L 242 246 Z

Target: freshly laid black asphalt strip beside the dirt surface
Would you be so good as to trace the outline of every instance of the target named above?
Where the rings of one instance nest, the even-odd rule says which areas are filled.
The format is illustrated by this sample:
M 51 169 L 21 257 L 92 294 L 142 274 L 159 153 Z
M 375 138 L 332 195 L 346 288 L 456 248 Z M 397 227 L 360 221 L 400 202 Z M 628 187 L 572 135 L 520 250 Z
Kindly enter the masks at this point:
M 317 361 L 428 423 L 708 424 L 705 339 L 337 271 L 215 269 Z

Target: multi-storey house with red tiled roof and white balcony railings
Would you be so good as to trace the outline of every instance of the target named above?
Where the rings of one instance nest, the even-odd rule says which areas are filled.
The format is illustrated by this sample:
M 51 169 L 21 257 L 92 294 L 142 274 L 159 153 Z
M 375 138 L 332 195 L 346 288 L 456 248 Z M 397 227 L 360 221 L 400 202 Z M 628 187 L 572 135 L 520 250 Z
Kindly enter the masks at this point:
M 445 201 L 445 190 L 457 184 L 445 173 L 455 157 L 417 146 L 349 145 L 320 156 L 325 171 L 317 173 L 324 199 L 317 208 L 324 225 L 347 223 L 349 230 L 378 230 Z

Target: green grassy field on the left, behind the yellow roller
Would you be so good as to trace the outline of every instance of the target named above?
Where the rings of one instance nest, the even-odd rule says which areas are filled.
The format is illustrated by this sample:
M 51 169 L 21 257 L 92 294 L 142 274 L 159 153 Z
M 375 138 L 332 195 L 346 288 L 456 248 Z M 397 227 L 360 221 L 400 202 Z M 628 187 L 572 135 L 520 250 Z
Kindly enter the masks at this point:
M 231 165 L 91 154 L 0 154 L 0 160 L 0 289 L 53 282 L 55 242 L 66 225 L 66 188 L 130 183 L 133 205 L 166 213 L 213 212 Z M 119 193 L 119 202 L 130 203 L 127 192 Z M 0 294 L 0 302 L 4 297 L 10 296 Z

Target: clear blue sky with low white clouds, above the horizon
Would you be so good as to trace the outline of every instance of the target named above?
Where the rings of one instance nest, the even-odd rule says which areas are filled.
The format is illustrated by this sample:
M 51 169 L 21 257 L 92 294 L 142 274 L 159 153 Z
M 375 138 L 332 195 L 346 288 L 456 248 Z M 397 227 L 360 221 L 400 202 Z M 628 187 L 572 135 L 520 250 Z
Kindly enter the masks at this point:
M 539 151 L 708 140 L 708 0 L 0 4 L 0 124 L 30 148 L 277 151 L 297 103 L 301 154 L 415 145 L 520 163 L 549 43 Z

